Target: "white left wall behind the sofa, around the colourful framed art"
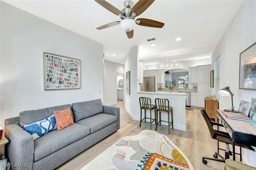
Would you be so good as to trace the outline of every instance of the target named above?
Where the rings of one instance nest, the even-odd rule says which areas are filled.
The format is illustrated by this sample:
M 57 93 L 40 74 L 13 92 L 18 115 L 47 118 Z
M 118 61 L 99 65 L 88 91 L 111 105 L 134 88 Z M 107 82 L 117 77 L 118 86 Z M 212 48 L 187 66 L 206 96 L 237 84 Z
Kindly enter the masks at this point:
M 0 3 L 0 126 L 25 110 L 93 99 L 103 102 L 102 44 Z M 81 88 L 44 91 L 43 52 L 80 59 Z

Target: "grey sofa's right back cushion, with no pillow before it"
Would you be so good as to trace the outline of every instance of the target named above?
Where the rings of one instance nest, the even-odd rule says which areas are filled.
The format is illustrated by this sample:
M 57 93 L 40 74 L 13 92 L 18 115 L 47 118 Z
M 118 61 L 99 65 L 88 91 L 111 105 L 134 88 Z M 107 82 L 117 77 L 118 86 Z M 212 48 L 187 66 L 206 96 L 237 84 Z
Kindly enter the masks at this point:
M 87 117 L 91 117 L 103 112 L 103 106 L 100 99 L 92 101 L 84 101 L 72 104 L 74 121 L 80 121 Z

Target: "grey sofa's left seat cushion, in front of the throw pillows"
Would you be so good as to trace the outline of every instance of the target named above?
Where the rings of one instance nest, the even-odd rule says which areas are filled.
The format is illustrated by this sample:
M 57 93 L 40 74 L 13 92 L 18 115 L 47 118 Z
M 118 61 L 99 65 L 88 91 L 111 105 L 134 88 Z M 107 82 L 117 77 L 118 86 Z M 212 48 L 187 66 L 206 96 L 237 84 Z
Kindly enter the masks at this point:
M 90 134 L 90 128 L 77 123 L 62 130 L 53 130 L 34 140 L 34 161 L 44 158 L 88 134 Z

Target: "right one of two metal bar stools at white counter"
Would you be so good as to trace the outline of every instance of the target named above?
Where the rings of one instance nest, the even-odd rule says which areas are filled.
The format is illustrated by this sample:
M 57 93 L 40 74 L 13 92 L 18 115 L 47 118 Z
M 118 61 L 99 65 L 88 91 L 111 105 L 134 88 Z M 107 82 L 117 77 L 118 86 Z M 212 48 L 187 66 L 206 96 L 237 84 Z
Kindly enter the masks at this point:
M 173 128 L 173 117 L 172 117 L 172 107 L 169 105 L 169 100 L 156 98 L 155 104 L 156 104 L 156 130 L 157 130 L 157 125 L 165 126 L 165 127 L 168 127 L 168 132 L 170 134 L 170 126 L 172 125 L 172 128 Z M 159 112 L 159 121 L 158 121 L 158 112 Z M 162 112 L 168 113 L 168 121 L 161 120 Z M 172 118 L 171 122 L 170 122 L 170 113 L 171 113 L 171 118 Z M 166 122 L 166 123 L 168 123 L 168 125 L 162 125 L 161 122 Z

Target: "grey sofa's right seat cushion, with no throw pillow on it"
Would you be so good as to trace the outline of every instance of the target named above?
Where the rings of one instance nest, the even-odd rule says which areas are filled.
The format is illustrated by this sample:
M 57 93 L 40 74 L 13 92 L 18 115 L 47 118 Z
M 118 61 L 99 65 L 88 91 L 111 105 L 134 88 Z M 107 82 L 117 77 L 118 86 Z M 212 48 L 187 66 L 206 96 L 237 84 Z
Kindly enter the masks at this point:
M 106 113 L 100 113 L 98 115 L 94 115 L 92 117 L 88 117 L 86 119 L 77 121 L 76 123 L 90 127 L 90 130 L 91 130 L 90 132 L 93 133 L 108 125 L 111 125 L 116 121 L 117 121 L 116 116 L 109 115 Z

